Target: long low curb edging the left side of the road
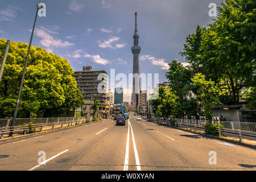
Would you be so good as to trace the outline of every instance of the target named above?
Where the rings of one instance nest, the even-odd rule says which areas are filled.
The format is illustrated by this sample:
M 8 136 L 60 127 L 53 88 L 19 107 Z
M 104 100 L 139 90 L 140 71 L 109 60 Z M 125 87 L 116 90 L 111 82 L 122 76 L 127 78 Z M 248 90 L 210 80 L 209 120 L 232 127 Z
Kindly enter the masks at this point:
M 97 122 L 102 122 L 104 121 L 105 119 L 101 119 L 101 121 L 97 121 Z M 58 132 L 58 131 L 63 131 L 63 130 L 68 130 L 68 129 L 73 129 L 75 127 L 80 127 L 80 126 L 83 126 L 83 125 L 88 125 L 90 123 L 97 123 L 97 122 L 88 122 L 88 123 L 82 123 L 80 125 L 73 125 L 73 126 L 66 126 L 66 127 L 63 127 L 63 128 L 59 128 L 59 129 L 53 129 L 53 130 L 49 130 L 49 131 L 42 131 L 42 132 L 39 132 L 39 133 L 32 133 L 32 134 L 27 134 L 27 135 L 20 135 L 20 136 L 16 136 L 14 138 L 5 138 L 5 139 L 1 139 L 0 140 L 0 145 L 1 144 L 6 144 L 6 143 L 10 143 L 10 142 L 14 142 L 16 140 L 19 140 L 19 139 L 24 139 L 24 138 L 32 138 L 32 137 L 36 137 L 36 136 L 40 136 L 40 135 L 46 135 L 46 134 L 49 134 L 49 133 L 55 133 L 55 132 Z

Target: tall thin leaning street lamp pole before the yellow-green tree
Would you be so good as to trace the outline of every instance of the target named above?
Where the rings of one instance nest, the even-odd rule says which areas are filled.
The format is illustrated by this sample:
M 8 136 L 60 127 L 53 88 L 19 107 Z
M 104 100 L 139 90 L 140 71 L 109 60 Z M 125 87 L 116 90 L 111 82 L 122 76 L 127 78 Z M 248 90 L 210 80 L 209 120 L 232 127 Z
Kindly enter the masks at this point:
M 27 60 L 28 60 L 28 56 L 30 55 L 30 47 L 31 47 L 31 43 L 32 43 L 33 35 L 34 35 L 34 30 L 35 30 L 36 18 L 38 17 L 38 10 L 41 8 L 43 8 L 43 5 L 36 6 L 36 15 L 35 15 L 35 20 L 34 20 L 34 26 L 33 26 L 32 33 L 31 33 L 30 44 L 28 46 L 27 57 L 26 57 L 25 65 L 24 65 L 23 74 L 22 74 L 22 80 L 20 81 L 19 93 L 18 93 L 18 98 L 16 100 L 16 106 L 15 106 L 15 110 L 14 110 L 13 120 L 11 121 L 11 126 L 15 125 L 15 119 L 17 117 L 17 112 L 18 112 L 18 107 L 19 107 L 20 94 L 22 92 L 23 81 L 24 81 L 26 68 L 27 68 Z M 9 137 L 11 137 L 11 135 L 13 135 L 13 130 L 10 130 L 10 131 L 11 132 L 9 133 Z

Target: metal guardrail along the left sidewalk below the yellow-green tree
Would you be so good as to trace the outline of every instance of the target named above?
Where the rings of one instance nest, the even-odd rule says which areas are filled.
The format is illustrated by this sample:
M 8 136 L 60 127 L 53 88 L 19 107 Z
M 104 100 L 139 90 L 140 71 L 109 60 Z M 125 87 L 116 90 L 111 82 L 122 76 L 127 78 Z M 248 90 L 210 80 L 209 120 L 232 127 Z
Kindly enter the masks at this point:
M 67 119 L 68 120 L 68 119 Z M 36 131 L 42 131 L 43 128 L 46 127 L 50 127 L 49 130 L 53 130 L 53 129 L 59 129 L 62 128 L 63 125 L 73 125 L 73 123 L 75 123 L 75 125 L 78 123 L 85 123 L 85 122 L 89 122 L 89 119 L 85 119 L 84 117 L 81 117 L 81 119 L 77 119 L 75 120 L 75 118 L 73 119 L 69 119 L 71 121 L 58 121 L 58 122 L 47 122 L 47 123 L 34 123 L 32 125 L 19 125 L 19 126 L 8 126 L 8 127 L 1 127 L 0 128 L 0 138 L 3 138 L 3 135 L 5 134 L 9 134 L 10 132 L 13 133 L 23 133 L 23 134 L 27 134 L 28 132 L 32 131 L 32 132 L 36 132 Z M 55 128 L 55 126 L 59 126 L 57 128 Z

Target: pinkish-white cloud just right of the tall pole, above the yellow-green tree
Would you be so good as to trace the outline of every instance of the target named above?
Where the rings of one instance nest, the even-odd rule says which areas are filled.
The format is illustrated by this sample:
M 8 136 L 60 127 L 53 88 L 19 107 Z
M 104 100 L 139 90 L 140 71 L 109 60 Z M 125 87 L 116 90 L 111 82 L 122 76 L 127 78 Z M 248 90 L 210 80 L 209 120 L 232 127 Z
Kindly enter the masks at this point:
M 46 27 L 35 28 L 35 35 L 42 38 L 42 40 L 40 40 L 40 44 L 42 44 L 42 46 L 46 47 L 48 50 L 52 51 L 54 48 L 65 48 L 74 45 L 68 41 L 55 38 L 52 34 L 58 34 L 58 32 L 49 30 Z

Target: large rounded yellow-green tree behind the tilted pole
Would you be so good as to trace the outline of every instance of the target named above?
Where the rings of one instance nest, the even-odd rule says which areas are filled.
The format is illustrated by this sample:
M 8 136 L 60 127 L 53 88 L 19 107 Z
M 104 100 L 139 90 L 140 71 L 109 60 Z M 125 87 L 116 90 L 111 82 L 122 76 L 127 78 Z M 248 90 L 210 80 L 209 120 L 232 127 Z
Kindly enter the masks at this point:
M 0 39 L 0 55 L 5 45 L 6 40 Z M 27 49 L 26 43 L 10 44 L 0 82 L 1 118 L 13 116 Z M 59 116 L 81 105 L 83 100 L 73 73 L 67 59 L 31 46 L 18 117 Z

